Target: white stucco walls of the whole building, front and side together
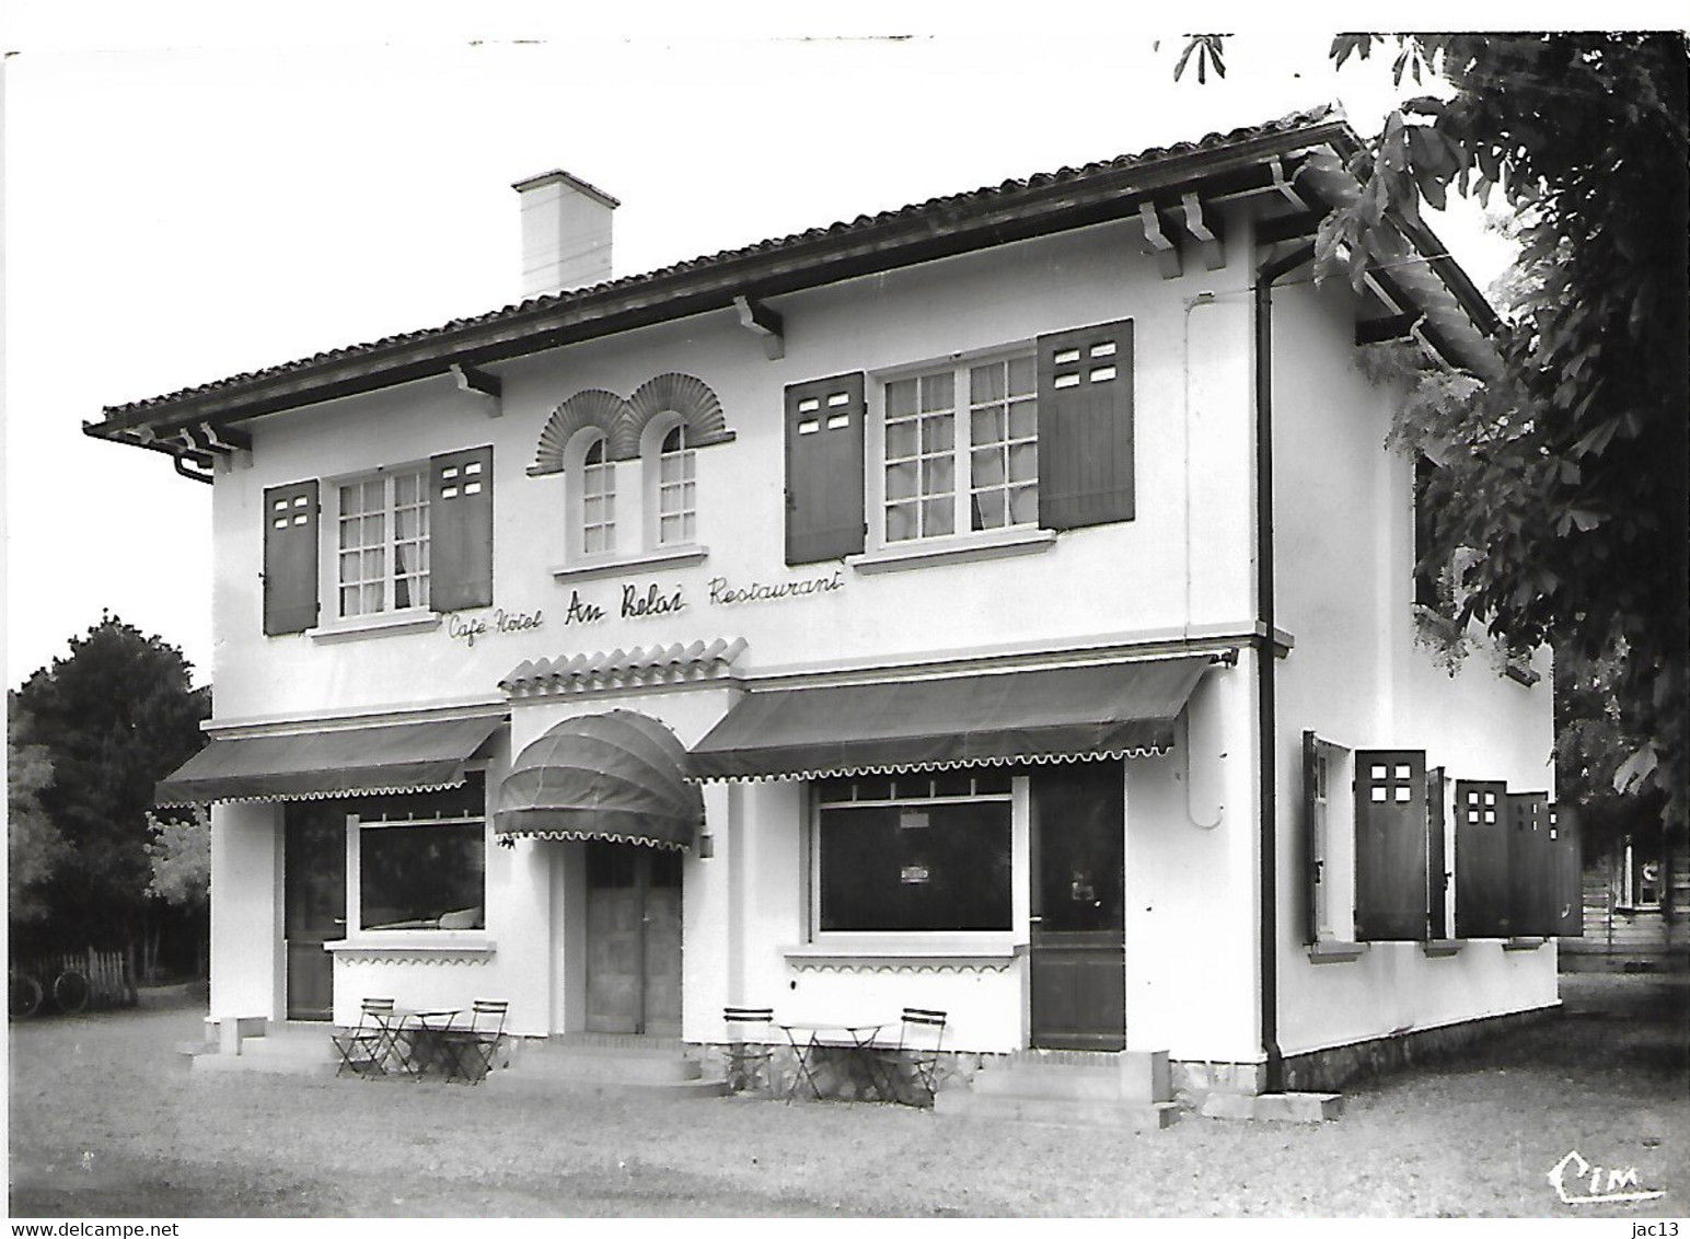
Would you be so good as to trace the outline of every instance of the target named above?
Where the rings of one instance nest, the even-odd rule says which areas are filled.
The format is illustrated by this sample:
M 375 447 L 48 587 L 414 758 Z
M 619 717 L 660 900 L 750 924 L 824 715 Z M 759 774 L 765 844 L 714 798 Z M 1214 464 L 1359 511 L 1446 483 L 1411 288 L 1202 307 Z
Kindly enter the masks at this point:
M 492 367 L 504 411 L 488 418 L 450 379 L 335 401 L 252 424 L 250 467 L 218 477 L 216 710 L 221 723 L 331 715 L 395 718 L 422 705 L 504 703 L 499 681 L 522 659 L 744 637 L 733 671 L 874 669 L 935 656 L 1034 656 L 1114 642 L 1235 636 L 1235 666 L 1212 669 L 1176 752 L 1127 766 L 1127 1038 L 1178 1058 L 1252 1062 L 1257 1028 L 1259 830 L 1256 652 L 1244 646 L 1254 600 L 1252 316 L 1244 250 L 1164 281 L 1139 254 L 1137 225 L 1115 223 L 999 247 L 911 270 L 774 299 L 786 357 L 764 358 L 732 311 L 630 331 Z M 782 563 L 782 390 L 842 372 L 875 374 L 1028 341 L 1044 331 L 1131 318 L 1136 333 L 1136 482 L 1131 522 L 1060 534 L 1038 553 L 901 571 Z M 1286 1053 L 1409 1026 L 1521 1009 L 1553 999 L 1553 952 L 1504 955 L 1494 943 L 1428 960 L 1418 947 L 1374 947 L 1345 965 L 1311 965 L 1296 908 L 1295 845 L 1303 727 L 1354 747 L 1426 747 L 1433 764 L 1541 786 L 1546 685 L 1521 690 L 1477 666 L 1448 681 L 1413 649 L 1408 461 L 1382 448 L 1387 392 L 1354 370 L 1352 306 L 1342 291 L 1284 286 L 1276 297 L 1279 625 L 1295 649 L 1279 668 L 1279 1009 Z M 666 372 L 720 397 L 735 439 L 696 453 L 703 563 L 556 576 L 566 561 L 559 477 L 531 478 L 553 409 L 585 389 L 630 394 Z M 870 416 L 870 472 L 874 470 Z M 539 612 L 541 627 L 488 632 L 473 646 L 448 620 L 429 630 L 265 637 L 260 615 L 264 487 L 336 478 L 493 445 L 493 605 Z M 619 512 L 632 526 L 639 465 L 619 467 Z M 872 487 L 870 487 L 872 495 Z M 323 489 L 333 527 L 333 482 Z M 870 526 L 874 522 L 870 521 Z M 625 526 L 627 527 L 627 526 Z M 625 548 L 627 549 L 627 548 Z M 874 553 L 870 534 L 870 556 Z M 781 602 L 711 603 L 711 578 L 781 585 L 838 573 L 842 588 Z M 679 590 L 684 607 L 622 619 L 624 585 Z M 573 595 L 605 609 L 564 622 Z M 324 615 L 333 592 L 321 588 Z M 480 612 L 485 617 L 488 612 Z M 475 614 L 472 614 L 475 615 Z M 695 744 L 727 712 L 722 685 L 519 700 L 509 754 L 561 718 L 632 708 Z M 504 759 L 502 759 L 504 761 Z M 497 769 L 490 783 L 497 781 Z M 810 828 L 803 784 L 711 784 L 715 855 L 684 860 L 683 1033 L 720 1036 L 728 1002 L 813 1019 L 891 1016 L 904 1004 L 950 1011 L 958 1048 L 1022 1045 L 1026 962 L 945 969 L 931 960 L 804 955 Z M 264 818 L 269 821 L 270 818 Z M 275 828 L 252 810 L 220 810 L 213 1006 L 277 1001 L 277 872 L 260 862 Z M 512 1001 L 512 1026 L 580 1028 L 571 974 L 580 849 L 519 842 L 488 852 L 488 930 L 475 963 L 417 967 L 365 957 L 336 963 L 336 1016 L 365 992 L 407 1004 Z M 269 884 L 269 887 L 265 886 Z M 269 891 L 269 904 L 259 898 Z M 1024 896 L 1022 896 L 1024 903 Z M 265 911 L 267 908 L 267 911 Z M 267 918 L 267 920 L 265 920 Z M 270 926 L 270 928 L 262 928 Z M 1011 936 L 1026 942 L 1024 916 Z M 815 947 L 810 943 L 810 947 Z M 1545 997 L 1548 994 L 1548 997 Z

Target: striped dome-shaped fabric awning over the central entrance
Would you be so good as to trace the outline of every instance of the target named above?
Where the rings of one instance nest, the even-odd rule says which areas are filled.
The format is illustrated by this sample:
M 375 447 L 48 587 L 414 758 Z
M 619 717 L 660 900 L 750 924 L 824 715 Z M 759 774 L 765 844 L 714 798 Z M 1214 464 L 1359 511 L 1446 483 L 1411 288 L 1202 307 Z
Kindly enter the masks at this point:
M 686 749 L 630 710 L 568 718 L 527 745 L 499 786 L 502 838 L 607 838 L 684 850 L 705 820 Z

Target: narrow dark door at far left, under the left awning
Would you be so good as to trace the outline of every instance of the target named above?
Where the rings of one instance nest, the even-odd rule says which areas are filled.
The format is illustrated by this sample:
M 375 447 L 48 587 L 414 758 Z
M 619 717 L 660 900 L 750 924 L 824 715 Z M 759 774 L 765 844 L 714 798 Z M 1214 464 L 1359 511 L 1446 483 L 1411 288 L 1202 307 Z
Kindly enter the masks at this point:
M 346 936 L 346 813 L 326 801 L 294 801 L 284 823 L 287 1018 L 330 1019 L 335 960 L 323 943 Z

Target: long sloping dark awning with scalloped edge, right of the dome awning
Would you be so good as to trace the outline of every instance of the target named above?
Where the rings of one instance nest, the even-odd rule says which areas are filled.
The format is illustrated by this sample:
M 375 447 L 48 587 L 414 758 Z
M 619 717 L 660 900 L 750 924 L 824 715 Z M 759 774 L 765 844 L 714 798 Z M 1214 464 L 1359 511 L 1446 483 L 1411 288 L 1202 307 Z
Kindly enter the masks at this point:
M 1173 747 L 1175 720 L 1208 664 L 1193 656 L 752 691 L 693 749 L 693 778 L 1144 757 Z

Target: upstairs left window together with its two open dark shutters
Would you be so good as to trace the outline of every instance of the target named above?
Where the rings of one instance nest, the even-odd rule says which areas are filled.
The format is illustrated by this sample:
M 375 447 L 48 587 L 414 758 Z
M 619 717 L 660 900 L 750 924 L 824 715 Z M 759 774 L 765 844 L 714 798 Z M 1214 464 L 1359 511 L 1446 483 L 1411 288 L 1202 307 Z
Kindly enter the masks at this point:
M 323 590 L 335 622 L 490 605 L 493 450 L 267 489 L 265 634 L 318 627 Z

